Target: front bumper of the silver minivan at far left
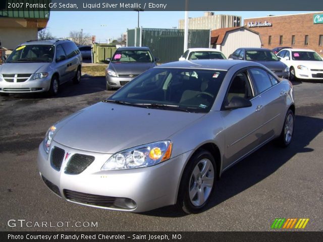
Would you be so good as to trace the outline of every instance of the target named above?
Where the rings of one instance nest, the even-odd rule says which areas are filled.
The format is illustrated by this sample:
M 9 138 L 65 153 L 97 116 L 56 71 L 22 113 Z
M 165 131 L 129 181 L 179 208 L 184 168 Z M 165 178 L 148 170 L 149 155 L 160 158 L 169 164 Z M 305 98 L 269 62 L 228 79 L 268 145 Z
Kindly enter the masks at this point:
M 30 93 L 46 92 L 50 87 L 50 77 L 41 80 L 27 80 L 25 82 L 0 81 L 0 92 L 2 93 Z

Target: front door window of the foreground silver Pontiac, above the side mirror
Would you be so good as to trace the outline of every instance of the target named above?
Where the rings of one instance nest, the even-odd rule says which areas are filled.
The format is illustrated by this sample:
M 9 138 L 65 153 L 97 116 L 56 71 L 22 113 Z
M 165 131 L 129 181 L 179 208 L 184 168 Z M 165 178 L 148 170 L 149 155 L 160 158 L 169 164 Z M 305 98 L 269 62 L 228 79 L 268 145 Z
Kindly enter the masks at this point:
M 228 90 L 226 102 L 229 103 L 234 96 L 250 99 L 253 97 L 247 71 L 237 74 Z

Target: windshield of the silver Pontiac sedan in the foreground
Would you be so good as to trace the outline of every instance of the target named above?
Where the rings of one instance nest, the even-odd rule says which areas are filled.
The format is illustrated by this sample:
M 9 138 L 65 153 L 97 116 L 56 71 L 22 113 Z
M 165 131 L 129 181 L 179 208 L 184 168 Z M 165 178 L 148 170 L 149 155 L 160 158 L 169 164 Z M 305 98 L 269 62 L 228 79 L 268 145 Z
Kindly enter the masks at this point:
M 226 71 L 153 68 L 133 79 L 106 101 L 145 108 L 208 112 Z

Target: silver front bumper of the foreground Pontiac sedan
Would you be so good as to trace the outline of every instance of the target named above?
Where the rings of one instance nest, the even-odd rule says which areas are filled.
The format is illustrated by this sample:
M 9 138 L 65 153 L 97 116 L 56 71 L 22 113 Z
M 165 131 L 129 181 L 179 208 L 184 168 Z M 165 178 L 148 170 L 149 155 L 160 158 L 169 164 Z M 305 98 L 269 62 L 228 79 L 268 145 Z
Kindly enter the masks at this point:
M 50 163 L 50 150 L 47 155 L 43 143 L 39 145 L 37 163 L 40 174 L 47 187 L 66 200 L 91 207 L 111 210 L 143 212 L 176 203 L 181 174 L 190 152 L 174 157 L 160 164 L 137 169 L 102 171 L 101 167 L 111 154 L 87 152 L 72 149 L 53 141 L 56 146 L 65 150 L 60 170 Z M 70 155 L 66 159 L 66 153 Z M 66 174 L 65 168 L 73 154 L 84 154 L 95 157 L 95 160 L 80 174 Z M 45 179 L 44 179 L 45 178 Z M 48 183 L 49 181 L 49 183 Z M 58 191 L 53 189 L 56 187 Z M 81 196 L 81 200 L 69 199 L 69 193 Z M 105 205 L 84 202 L 86 198 L 116 199 L 115 203 Z M 91 200 L 93 201 L 93 200 Z M 118 203 L 131 201 L 134 206 Z

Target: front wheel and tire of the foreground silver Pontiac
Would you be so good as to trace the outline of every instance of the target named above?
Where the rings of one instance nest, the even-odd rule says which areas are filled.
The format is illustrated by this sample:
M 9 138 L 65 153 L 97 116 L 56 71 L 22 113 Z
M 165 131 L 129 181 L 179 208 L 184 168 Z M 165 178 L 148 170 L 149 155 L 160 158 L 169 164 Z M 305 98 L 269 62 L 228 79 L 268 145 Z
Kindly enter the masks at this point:
M 216 162 L 210 152 L 200 150 L 194 154 L 184 169 L 177 207 L 188 214 L 203 211 L 213 195 L 216 174 Z

